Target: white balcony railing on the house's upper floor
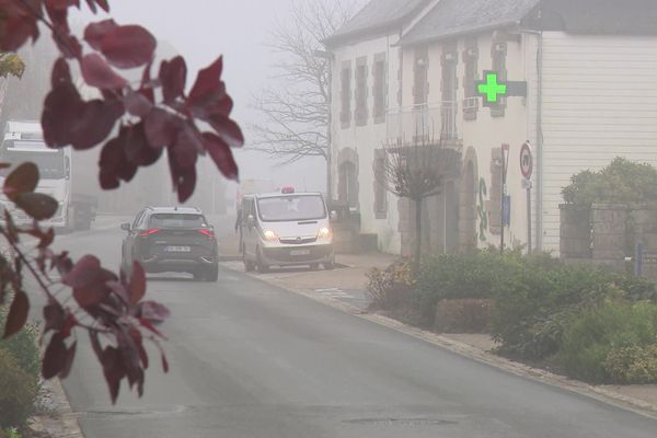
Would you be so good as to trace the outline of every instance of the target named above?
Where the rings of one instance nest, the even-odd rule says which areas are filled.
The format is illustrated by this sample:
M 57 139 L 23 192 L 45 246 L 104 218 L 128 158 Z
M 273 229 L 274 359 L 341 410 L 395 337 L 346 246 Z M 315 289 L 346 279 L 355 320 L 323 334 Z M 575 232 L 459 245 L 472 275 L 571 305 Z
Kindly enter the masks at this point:
M 388 112 L 388 141 L 457 140 L 457 102 L 403 106 Z

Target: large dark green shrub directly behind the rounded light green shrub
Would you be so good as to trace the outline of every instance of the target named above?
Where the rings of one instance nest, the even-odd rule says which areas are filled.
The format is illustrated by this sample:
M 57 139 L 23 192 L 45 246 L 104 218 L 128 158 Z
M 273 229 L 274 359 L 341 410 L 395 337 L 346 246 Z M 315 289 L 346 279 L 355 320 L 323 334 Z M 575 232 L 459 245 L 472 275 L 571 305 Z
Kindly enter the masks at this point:
M 556 354 L 570 320 L 606 299 L 654 299 L 646 280 L 586 265 L 523 263 L 496 297 L 492 332 L 499 351 L 530 360 Z

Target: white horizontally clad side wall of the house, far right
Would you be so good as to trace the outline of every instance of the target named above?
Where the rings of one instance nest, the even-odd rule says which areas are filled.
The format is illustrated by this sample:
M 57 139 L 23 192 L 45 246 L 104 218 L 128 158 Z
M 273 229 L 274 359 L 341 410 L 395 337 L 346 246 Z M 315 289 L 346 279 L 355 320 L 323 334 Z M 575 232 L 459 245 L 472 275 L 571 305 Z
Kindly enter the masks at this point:
M 558 250 L 561 191 L 618 155 L 657 166 L 657 38 L 544 33 L 544 249 Z

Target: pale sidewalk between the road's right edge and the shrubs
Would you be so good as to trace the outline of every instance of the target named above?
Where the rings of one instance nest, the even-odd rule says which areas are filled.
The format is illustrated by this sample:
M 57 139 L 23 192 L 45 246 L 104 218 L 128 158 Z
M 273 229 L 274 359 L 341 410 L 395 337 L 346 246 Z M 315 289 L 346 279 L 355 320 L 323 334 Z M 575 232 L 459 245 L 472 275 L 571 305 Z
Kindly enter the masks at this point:
M 657 385 L 589 385 L 494 355 L 491 350 L 495 347 L 495 343 L 489 335 L 435 334 L 407 326 L 384 315 L 369 314 L 367 308 L 370 300 L 367 293 L 366 273 L 372 267 L 384 268 L 395 258 L 393 255 L 381 253 L 338 254 L 336 263 L 344 267 L 335 270 L 313 272 L 308 268 L 286 268 L 274 269 L 267 274 L 253 273 L 249 275 L 342 311 L 361 315 L 372 322 L 423 338 L 474 360 L 657 417 Z M 241 262 L 226 262 L 222 265 L 233 270 L 244 272 Z

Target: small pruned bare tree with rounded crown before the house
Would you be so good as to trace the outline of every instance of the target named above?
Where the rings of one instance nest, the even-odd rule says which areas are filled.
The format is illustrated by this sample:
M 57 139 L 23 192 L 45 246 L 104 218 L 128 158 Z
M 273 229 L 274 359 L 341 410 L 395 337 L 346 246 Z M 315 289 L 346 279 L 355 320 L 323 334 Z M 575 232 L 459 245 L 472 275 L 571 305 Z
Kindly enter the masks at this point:
M 383 146 L 383 165 L 373 163 L 373 174 L 378 184 L 401 198 L 407 198 L 415 206 L 415 240 L 413 266 L 419 268 L 422 257 L 422 208 L 423 203 L 442 192 L 446 180 L 457 177 L 461 155 L 446 148 L 442 139 L 429 135 L 416 135 L 412 141 L 400 139 Z

